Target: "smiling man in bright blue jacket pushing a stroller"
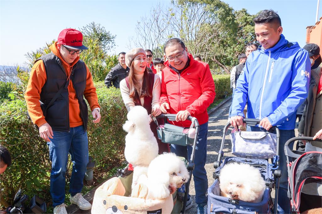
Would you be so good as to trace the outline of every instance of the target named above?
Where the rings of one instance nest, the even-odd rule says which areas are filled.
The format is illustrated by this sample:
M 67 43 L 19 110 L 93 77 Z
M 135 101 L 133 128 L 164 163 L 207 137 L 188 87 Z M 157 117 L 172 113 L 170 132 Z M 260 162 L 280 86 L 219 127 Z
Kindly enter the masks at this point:
M 232 101 L 231 124 L 237 130 L 245 117 L 243 109 L 248 105 L 247 118 L 260 119 L 259 127 L 247 127 L 247 131 L 280 129 L 278 213 L 290 213 L 287 196 L 288 173 L 284 155 L 285 142 L 294 137 L 296 111 L 307 97 L 310 81 L 308 52 L 292 43 L 282 34 L 279 15 L 273 10 L 263 10 L 253 20 L 257 51 L 248 56 L 246 65 L 237 80 Z

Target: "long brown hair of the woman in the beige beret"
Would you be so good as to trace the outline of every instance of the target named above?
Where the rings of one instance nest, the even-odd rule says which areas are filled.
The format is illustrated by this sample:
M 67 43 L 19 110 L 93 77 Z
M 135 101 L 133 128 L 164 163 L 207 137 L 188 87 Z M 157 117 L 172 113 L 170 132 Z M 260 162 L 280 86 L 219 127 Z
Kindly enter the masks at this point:
M 152 97 L 152 90 L 151 90 L 151 82 L 149 81 L 149 72 L 147 67 L 145 67 L 145 71 L 143 74 L 143 81 L 142 81 L 142 91 L 139 96 L 139 92 L 141 90 L 140 81 L 138 81 L 134 76 L 134 60 L 131 63 L 130 71 L 128 73 L 128 86 L 130 89 L 129 97 L 134 100 L 134 102 L 139 102 L 141 97 Z

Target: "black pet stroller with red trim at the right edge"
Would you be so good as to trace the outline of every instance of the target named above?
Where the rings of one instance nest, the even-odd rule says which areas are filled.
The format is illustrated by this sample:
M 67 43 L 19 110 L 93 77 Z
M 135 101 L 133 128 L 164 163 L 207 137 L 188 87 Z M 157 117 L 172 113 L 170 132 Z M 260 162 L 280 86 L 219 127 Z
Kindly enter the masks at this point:
M 297 140 L 313 141 L 313 138 L 294 137 L 286 141 L 284 147 L 291 210 L 292 213 L 303 213 L 306 210 L 322 207 L 322 152 L 292 150 L 289 144 Z

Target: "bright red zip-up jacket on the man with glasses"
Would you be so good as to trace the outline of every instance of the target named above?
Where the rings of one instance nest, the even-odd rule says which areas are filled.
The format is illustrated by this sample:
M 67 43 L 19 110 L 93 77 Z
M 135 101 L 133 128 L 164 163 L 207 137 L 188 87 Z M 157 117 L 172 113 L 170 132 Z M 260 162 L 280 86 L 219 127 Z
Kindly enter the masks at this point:
M 179 75 L 165 63 L 162 72 L 160 104 L 167 102 L 170 114 L 187 110 L 191 116 L 197 118 L 199 124 L 208 121 L 207 107 L 213 103 L 215 98 L 215 85 L 207 63 L 194 60 L 191 54 L 188 55 L 190 63 Z M 170 121 L 178 126 L 188 127 L 191 122 Z

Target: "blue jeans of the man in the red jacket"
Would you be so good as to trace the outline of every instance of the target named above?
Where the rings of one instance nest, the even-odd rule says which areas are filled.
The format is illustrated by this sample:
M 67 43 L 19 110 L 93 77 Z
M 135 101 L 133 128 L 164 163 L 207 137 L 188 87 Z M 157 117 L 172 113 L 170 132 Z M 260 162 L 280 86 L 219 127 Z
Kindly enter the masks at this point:
M 207 204 L 207 189 L 208 178 L 207 172 L 204 168 L 207 159 L 207 134 L 208 134 L 208 122 L 200 125 L 197 145 L 194 152 L 194 190 L 196 192 L 196 204 Z M 192 146 L 179 146 L 171 144 L 171 152 L 174 152 L 177 156 L 185 157 L 190 160 L 192 153 Z M 188 157 L 187 157 L 188 156 Z M 188 196 L 189 199 L 189 196 Z

